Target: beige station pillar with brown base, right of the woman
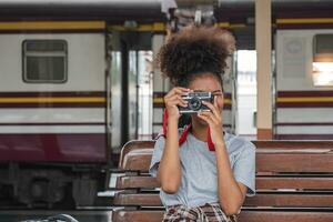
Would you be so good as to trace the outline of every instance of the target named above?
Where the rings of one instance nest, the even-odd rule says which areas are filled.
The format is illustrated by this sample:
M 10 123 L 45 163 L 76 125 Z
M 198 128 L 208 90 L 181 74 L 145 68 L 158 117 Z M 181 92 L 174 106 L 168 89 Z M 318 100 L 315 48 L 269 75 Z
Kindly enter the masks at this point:
M 272 128 L 272 9 L 271 0 L 255 0 L 258 140 L 271 140 Z

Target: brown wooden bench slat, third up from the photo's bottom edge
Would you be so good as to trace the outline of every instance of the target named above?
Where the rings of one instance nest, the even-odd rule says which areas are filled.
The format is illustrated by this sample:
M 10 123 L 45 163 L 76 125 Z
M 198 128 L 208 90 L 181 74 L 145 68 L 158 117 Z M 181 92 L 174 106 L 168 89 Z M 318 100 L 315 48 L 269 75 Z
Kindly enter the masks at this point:
M 256 175 L 255 188 L 261 189 L 332 189 L 333 178 L 276 178 L 276 176 L 260 176 Z M 153 189 L 159 188 L 158 181 L 152 176 L 119 176 L 117 178 L 118 190 L 124 189 Z

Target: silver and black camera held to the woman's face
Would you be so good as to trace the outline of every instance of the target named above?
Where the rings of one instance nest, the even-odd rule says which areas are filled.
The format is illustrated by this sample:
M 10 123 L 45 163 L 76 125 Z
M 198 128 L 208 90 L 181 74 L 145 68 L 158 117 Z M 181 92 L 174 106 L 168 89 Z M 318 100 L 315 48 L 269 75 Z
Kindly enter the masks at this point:
M 180 113 L 195 113 L 200 111 L 210 111 L 202 101 L 213 102 L 214 95 L 211 92 L 189 92 L 182 95 L 182 99 L 188 101 L 188 107 L 178 107 Z

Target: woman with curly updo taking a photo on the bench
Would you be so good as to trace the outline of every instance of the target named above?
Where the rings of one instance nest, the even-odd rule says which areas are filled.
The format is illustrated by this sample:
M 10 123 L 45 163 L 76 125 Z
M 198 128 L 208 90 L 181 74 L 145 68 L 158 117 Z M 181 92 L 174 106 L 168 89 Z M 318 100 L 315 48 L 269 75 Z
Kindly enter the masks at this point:
M 246 193 L 255 193 L 255 147 L 223 131 L 221 73 L 233 49 L 229 32 L 192 26 L 160 50 L 161 71 L 175 85 L 164 97 L 168 127 L 150 165 L 167 208 L 163 221 L 236 221 Z M 214 100 L 179 129 L 178 108 L 188 105 L 181 95 L 191 91 L 212 92 Z

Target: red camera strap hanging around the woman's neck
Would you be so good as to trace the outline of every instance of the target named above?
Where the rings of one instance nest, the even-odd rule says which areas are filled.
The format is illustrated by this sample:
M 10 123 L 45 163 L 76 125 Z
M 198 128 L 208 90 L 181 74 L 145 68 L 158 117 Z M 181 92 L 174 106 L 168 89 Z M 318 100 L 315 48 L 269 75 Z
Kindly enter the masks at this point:
M 191 123 L 184 127 L 184 130 L 182 131 L 182 133 L 179 138 L 179 147 L 181 147 L 185 142 L 186 137 L 188 137 L 191 128 L 192 128 Z M 163 113 L 163 137 L 164 138 L 167 138 L 167 132 L 168 132 L 168 113 L 167 113 L 167 110 L 164 110 L 164 113 Z M 210 127 L 208 127 L 206 143 L 208 143 L 208 147 L 209 147 L 210 151 L 215 151 L 215 145 L 214 145 L 214 143 L 212 141 L 212 138 L 211 138 Z

